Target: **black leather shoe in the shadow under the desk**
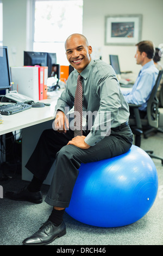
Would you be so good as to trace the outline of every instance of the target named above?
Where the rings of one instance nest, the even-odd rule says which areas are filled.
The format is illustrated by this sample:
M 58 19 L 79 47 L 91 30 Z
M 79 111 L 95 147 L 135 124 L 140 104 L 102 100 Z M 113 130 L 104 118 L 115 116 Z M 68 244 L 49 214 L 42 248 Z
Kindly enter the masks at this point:
M 8 191 L 5 193 L 5 196 L 12 200 L 17 201 L 28 201 L 35 204 L 42 203 L 42 194 L 41 191 L 30 192 L 27 187 L 24 187 L 20 192 L 11 192 Z

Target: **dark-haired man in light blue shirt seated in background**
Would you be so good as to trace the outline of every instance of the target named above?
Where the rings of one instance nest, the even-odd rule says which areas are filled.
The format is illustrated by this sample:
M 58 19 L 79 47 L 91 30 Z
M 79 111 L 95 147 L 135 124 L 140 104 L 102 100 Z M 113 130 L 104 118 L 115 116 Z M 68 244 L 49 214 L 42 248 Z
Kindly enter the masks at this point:
M 139 108 L 141 118 L 147 113 L 147 102 L 159 73 L 153 62 L 154 52 L 152 41 L 141 41 L 136 44 L 136 64 L 141 65 L 142 68 L 132 90 L 123 93 L 128 103 L 142 105 Z M 132 109 L 130 109 L 131 116 L 133 116 Z

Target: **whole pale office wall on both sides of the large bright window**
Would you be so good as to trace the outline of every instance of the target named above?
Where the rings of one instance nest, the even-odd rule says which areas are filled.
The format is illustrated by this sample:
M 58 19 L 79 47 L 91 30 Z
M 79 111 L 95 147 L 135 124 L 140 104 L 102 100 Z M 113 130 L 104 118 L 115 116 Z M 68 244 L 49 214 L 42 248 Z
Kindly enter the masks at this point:
M 30 0 L 2 2 L 3 42 L 9 48 L 10 65 L 23 65 L 23 51 L 31 50 L 27 44 L 29 40 L 26 31 L 27 2 Z M 135 64 L 135 46 L 104 45 L 104 17 L 111 14 L 142 14 L 142 40 L 152 40 L 158 46 L 163 44 L 162 9 L 162 0 L 84 0 L 83 34 L 94 52 L 100 48 L 102 59 L 106 63 L 109 63 L 109 54 L 118 54 L 121 70 L 133 70 L 137 74 L 141 67 Z

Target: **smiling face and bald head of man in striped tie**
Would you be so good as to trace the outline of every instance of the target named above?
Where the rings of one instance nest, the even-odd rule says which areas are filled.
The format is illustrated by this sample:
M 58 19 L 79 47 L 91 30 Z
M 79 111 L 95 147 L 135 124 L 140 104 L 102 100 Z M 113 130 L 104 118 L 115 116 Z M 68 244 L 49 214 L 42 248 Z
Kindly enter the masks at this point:
M 91 61 L 92 47 L 84 36 L 73 34 L 66 40 L 65 49 L 68 62 L 81 73 Z

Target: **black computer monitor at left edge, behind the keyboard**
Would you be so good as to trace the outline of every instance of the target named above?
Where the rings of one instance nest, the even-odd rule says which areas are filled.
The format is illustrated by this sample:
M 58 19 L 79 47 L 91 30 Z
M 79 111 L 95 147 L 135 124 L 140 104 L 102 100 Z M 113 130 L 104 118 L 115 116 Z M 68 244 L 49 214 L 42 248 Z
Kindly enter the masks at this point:
M 0 46 L 0 90 L 11 87 L 8 47 Z

